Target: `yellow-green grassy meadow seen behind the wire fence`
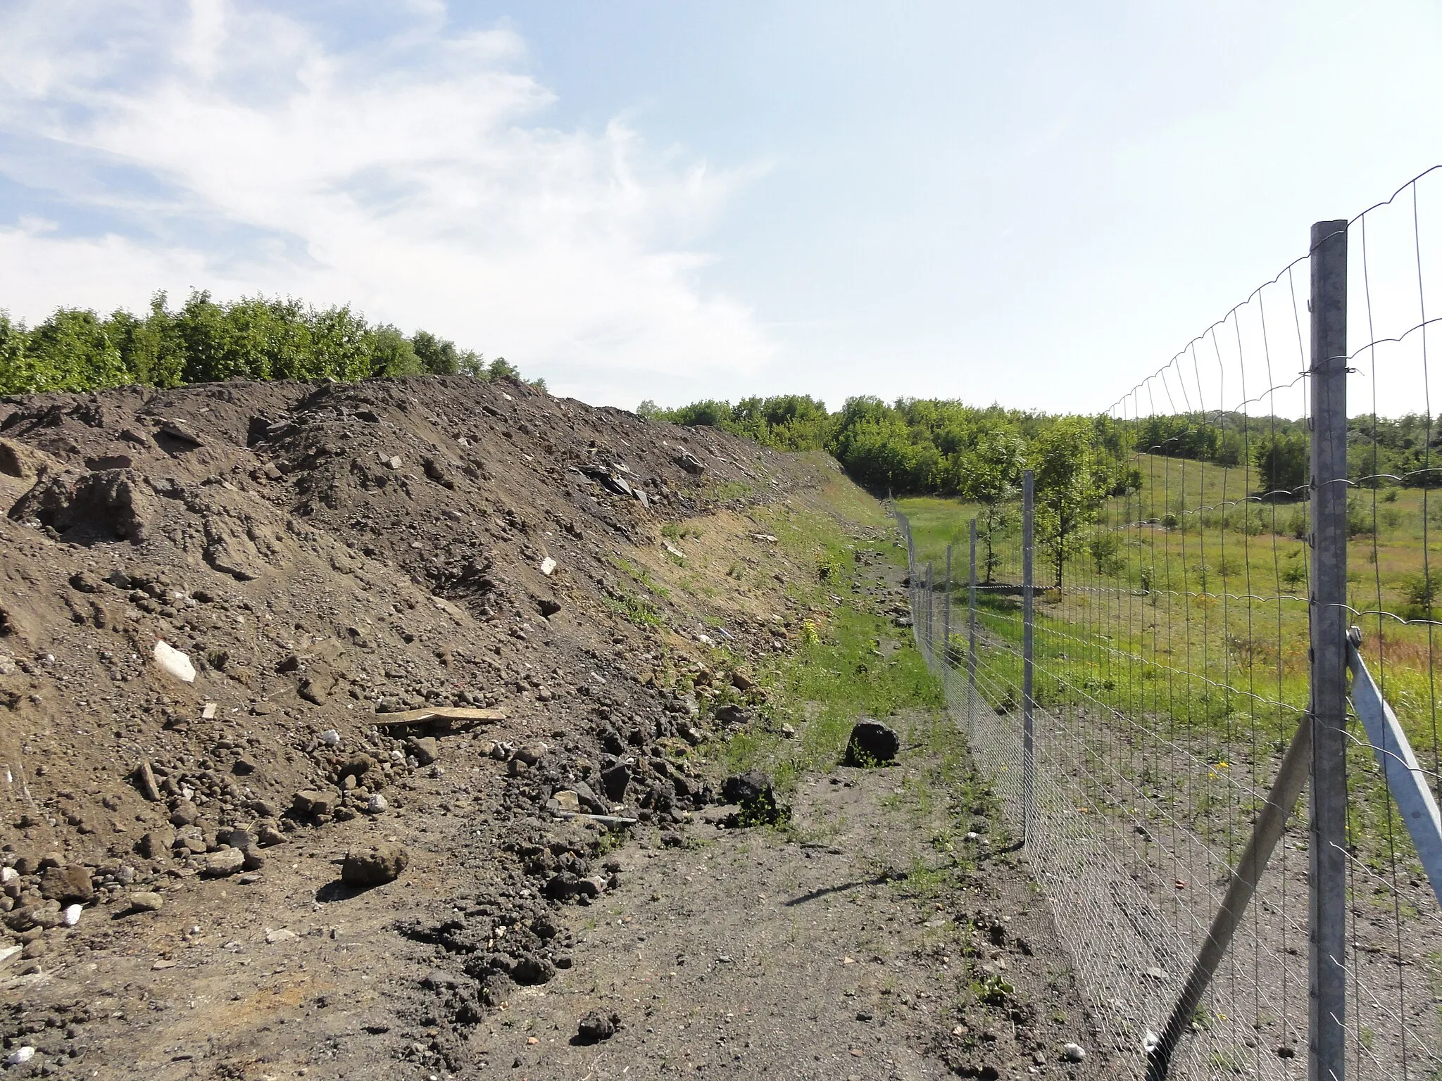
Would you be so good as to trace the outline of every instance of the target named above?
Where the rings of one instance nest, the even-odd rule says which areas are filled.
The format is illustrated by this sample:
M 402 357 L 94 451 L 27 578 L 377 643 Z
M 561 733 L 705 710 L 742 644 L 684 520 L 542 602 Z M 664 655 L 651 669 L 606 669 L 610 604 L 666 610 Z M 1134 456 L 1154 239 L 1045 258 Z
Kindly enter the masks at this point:
M 1193 461 L 1144 455 L 1139 493 L 1112 500 L 1096 532 L 1113 540 L 1086 545 L 1064 565 L 1064 588 L 1038 549 L 1035 582 L 1035 698 L 1053 711 L 1084 711 L 1096 724 L 1086 751 L 1119 764 L 1125 784 L 1094 793 L 1099 806 L 1122 806 L 1126 790 L 1144 791 L 1229 850 L 1244 840 L 1223 839 L 1227 822 L 1247 807 L 1221 784 L 1226 775 L 1266 788 L 1275 762 L 1301 721 L 1308 693 L 1308 549 L 1305 503 L 1257 503 L 1244 497 L 1256 479 Z M 1423 506 L 1423 502 L 1426 503 Z M 966 536 L 975 507 L 959 502 L 900 500 L 911 520 L 919 565 L 933 562 L 940 577 L 953 545 L 953 579 L 965 582 Z M 1423 565 L 1442 569 L 1442 494 L 1415 489 L 1351 493 L 1348 604 L 1403 618 L 1438 617 L 1416 604 Z M 1019 584 L 1019 529 L 995 539 L 1002 555 L 996 581 Z M 1436 569 L 1432 571 L 1438 574 Z M 962 611 L 955 630 L 963 634 Z M 1381 683 L 1425 768 L 1438 762 L 1442 702 L 1433 682 L 1429 627 L 1387 617 L 1353 620 L 1363 626 L 1363 654 Z M 982 592 L 978 608 L 979 657 L 999 688 L 1021 682 L 1021 611 L 1014 594 Z M 957 644 L 965 647 L 965 639 Z M 994 696 L 999 696 L 994 695 Z M 995 703 L 1005 705 L 1005 703 Z M 1139 726 L 1151 729 L 1142 734 Z M 1355 732 L 1363 738 L 1360 728 Z M 1148 739 L 1152 751 L 1148 749 Z M 1211 765 L 1177 788 L 1177 768 L 1158 761 L 1155 747 L 1174 742 Z M 1363 859 L 1380 868 L 1392 859 L 1412 868 L 1406 829 L 1380 783 L 1366 745 L 1348 751 L 1353 837 Z

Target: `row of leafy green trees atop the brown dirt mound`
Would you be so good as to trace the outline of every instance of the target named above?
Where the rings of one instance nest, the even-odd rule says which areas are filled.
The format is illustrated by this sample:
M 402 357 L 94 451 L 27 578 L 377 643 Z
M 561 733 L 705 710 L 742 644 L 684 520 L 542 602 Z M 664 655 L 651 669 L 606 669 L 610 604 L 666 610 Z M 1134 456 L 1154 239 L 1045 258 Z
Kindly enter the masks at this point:
M 221 379 L 339 379 L 378 375 L 519 379 L 505 357 L 486 360 L 425 330 L 405 336 L 348 306 L 293 298 L 216 301 L 205 291 L 172 311 L 164 293 L 143 316 L 56 308 L 35 327 L 0 311 L 0 393 L 98 391 L 124 383 L 179 386 Z M 542 381 L 534 385 L 542 386 Z

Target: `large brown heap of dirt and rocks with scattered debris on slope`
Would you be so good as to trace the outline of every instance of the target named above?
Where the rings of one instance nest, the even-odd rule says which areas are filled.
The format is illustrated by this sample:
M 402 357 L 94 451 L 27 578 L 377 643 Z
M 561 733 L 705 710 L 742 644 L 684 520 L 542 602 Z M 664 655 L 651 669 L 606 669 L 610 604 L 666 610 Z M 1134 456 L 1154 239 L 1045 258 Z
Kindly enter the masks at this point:
M 89 908 L 221 904 L 301 837 L 394 878 L 382 836 L 483 811 L 485 948 L 405 931 L 470 958 L 438 1009 L 542 982 L 548 914 L 619 873 L 585 816 L 679 829 L 717 800 L 694 748 L 766 699 L 624 552 L 828 468 L 460 378 L 0 399 L 0 964 L 42 971 Z M 799 627 L 735 613 L 728 654 Z

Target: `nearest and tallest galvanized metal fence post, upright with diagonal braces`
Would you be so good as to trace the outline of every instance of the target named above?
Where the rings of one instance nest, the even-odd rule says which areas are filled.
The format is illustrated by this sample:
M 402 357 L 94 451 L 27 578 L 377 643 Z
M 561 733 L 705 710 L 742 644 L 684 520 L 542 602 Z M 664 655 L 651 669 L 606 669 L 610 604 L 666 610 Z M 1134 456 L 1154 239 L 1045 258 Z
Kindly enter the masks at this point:
M 1312 225 L 1311 1009 L 1308 1077 L 1347 1036 L 1347 222 Z

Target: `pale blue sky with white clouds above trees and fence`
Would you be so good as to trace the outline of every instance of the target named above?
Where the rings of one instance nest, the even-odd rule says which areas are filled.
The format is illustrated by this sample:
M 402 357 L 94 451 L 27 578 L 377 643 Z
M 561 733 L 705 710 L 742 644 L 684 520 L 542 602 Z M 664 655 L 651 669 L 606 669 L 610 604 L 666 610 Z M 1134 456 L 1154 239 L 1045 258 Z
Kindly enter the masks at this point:
M 1100 409 L 1442 161 L 1435 3 L 0 0 L 0 307 L 296 294 L 642 398 Z

